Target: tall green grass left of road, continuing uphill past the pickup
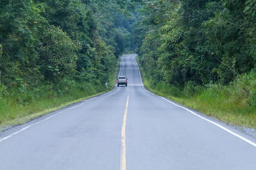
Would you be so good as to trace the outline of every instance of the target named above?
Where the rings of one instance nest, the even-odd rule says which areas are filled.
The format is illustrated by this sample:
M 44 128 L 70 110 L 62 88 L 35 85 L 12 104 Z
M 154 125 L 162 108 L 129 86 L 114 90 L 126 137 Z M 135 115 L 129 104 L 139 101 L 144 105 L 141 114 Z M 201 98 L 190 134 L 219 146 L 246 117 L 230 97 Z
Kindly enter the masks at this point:
M 120 60 L 115 65 L 115 69 L 110 75 L 108 88 L 95 86 L 90 83 L 75 83 L 66 85 L 65 91 L 54 91 L 48 86 L 41 85 L 40 92 L 35 91 L 4 91 L 0 94 L 0 131 L 17 124 L 24 124 L 31 119 L 46 115 L 59 110 L 70 104 L 83 101 L 89 97 L 105 93 L 113 89 Z

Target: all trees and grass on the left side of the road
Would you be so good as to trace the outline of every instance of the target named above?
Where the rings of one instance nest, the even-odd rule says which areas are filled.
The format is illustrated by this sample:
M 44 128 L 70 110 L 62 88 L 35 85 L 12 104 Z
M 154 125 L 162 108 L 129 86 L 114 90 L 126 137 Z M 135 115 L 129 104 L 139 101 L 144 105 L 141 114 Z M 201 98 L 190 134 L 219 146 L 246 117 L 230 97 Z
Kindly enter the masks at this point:
M 136 6 L 137 0 L 1 0 L 0 126 L 113 88 Z

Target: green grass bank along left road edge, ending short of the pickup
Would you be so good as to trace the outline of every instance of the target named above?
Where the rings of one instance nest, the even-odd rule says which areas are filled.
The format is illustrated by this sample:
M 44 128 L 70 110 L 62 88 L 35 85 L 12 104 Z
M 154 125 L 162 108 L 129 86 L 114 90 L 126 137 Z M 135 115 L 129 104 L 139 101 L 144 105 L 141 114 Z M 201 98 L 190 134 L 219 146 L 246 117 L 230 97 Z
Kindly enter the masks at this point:
M 16 124 L 24 124 L 31 119 L 101 93 L 104 91 L 94 89 L 90 89 L 90 91 L 74 90 L 62 95 L 58 95 L 54 91 L 45 91 L 40 96 L 29 97 L 27 102 L 23 101 L 27 99 L 24 94 L 11 93 L 0 101 L 0 130 Z M 21 99 L 22 101 L 20 101 Z

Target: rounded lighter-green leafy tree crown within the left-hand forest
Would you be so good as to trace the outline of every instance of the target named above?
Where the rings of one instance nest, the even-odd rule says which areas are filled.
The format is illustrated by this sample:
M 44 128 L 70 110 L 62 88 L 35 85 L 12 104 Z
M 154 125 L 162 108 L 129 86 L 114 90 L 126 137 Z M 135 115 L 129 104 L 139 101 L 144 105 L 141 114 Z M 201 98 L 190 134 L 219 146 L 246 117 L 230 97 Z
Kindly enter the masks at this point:
M 58 82 L 64 75 L 75 72 L 79 45 L 73 42 L 58 27 L 50 26 L 40 36 L 41 46 L 38 56 L 38 70 L 45 79 Z

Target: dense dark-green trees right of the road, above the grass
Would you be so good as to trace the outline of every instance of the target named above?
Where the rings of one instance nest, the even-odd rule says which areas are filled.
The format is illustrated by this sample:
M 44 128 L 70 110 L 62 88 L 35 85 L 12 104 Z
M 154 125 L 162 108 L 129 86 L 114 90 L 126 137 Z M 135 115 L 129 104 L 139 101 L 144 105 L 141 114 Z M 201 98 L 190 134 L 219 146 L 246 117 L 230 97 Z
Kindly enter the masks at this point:
M 144 1 L 132 37 L 146 75 L 185 86 L 228 84 L 251 71 L 254 7 L 250 0 Z

